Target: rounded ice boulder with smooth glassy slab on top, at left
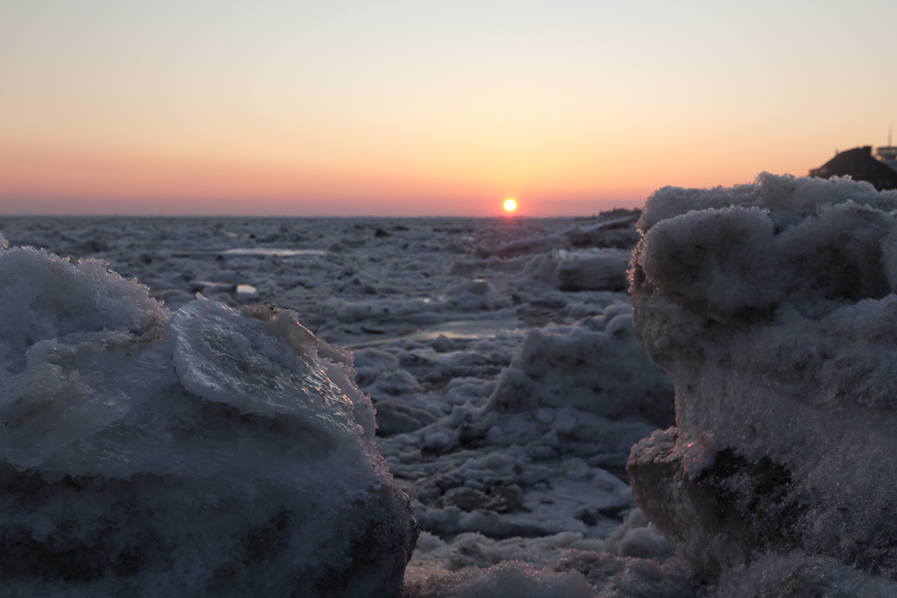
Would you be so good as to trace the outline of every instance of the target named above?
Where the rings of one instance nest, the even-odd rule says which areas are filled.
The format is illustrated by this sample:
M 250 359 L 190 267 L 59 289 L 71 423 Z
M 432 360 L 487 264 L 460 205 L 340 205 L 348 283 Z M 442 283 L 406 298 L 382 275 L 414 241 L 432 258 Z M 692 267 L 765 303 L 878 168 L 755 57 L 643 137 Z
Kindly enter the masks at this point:
M 351 356 L 0 249 L 0 594 L 391 596 L 418 524 Z

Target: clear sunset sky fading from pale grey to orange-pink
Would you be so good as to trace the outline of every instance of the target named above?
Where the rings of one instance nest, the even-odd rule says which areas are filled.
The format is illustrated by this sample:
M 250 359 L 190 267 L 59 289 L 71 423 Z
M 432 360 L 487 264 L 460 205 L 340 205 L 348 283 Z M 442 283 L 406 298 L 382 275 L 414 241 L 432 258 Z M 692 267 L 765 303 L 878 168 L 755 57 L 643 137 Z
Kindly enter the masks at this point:
M 897 125 L 897 2 L 0 0 L 0 214 L 531 216 Z

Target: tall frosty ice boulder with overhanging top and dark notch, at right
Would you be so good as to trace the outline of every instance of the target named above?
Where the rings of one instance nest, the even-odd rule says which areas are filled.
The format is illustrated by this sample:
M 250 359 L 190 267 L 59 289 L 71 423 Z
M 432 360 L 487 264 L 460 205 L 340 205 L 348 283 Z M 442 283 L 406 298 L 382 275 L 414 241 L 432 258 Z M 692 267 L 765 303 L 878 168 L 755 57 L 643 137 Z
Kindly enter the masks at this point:
M 870 576 L 897 595 L 895 210 L 866 183 L 763 174 L 666 187 L 641 217 L 634 332 L 676 427 L 633 448 L 632 491 L 692 571 L 742 579 L 727 595 Z

